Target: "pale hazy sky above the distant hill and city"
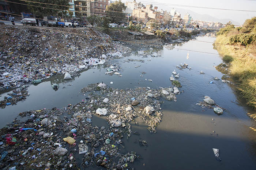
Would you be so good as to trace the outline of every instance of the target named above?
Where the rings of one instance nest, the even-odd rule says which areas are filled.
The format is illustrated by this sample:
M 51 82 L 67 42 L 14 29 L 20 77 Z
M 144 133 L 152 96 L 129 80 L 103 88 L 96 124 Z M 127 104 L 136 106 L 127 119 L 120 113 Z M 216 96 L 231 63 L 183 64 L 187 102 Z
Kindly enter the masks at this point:
M 131 0 L 122 0 L 131 1 Z M 136 0 L 140 2 L 139 0 Z M 212 8 L 225 8 L 225 9 L 240 9 L 256 11 L 256 0 L 141 0 L 143 4 L 152 2 L 153 6 L 157 6 L 158 9 L 170 11 L 172 8 L 189 9 L 196 13 L 208 14 L 219 19 L 232 19 L 239 23 L 244 23 L 246 19 L 256 16 L 256 12 L 242 12 L 242 11 L 226 11 L 219 9 L 204 9 L 204 8 L 191 8 L 191 7 L 175 7 L 169 5 L 160 5 L 157 3 L 166 4 L 179 4 L 179 5 L 191 5 L 200 7 L 212 7 Z M 155 3 L 155 4 L 154 4 Z M 193 17 L 193 16 L 192 16 Z

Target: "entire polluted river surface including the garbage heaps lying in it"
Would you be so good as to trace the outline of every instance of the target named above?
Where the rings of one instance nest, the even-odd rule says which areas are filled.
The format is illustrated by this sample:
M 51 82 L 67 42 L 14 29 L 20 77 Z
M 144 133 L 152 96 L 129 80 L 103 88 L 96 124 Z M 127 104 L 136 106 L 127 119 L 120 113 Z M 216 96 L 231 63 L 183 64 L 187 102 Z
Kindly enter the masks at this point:
M 197 40 L 174 47 L 195 51 L 203 49 L 216 54 L 211 43 L 203 43 L 213 42 L 215 38 L 199 36 Z M 245 114 L 250 110 L 237 100 L 228 83 L 214 80 L 223 76 L 212 67 L 221 62 L 218 55 L 191 51 L 188 58 L 187 50 L 167 46 L 159 51 L 143 48 L 124 58 L 109 60 L 103 65 L 81 71 L 72 79 L 63 80 L 63 75 L 58 74 L 29 86 L 27 91 L 30 95 L 25 101 L 1 110 L 3 129 L 0 142 L 3 144 L 0 153 L 3 157 L 5 155 L 0 162 L 1 168 L 61 169 L 64 166 L 65 169 L 111 169 L 113 162 L 118 163 L 125 158 L 118 156 L 121 154 L 136 157 L 133 163 L 127 160 L 128 167 L 121 162 L 123 169 L 190 169 L 191 166 L 197 169 L 208 166 L 210 170 L 252 169 L 256 160 L 253 154 L 256 134 L 249 129 L 255 126 L 255 122 Z M 178 69 L 180 66 L 177 65 L 184 62 L 188 68 Z M 105 74 L 109 68 L 118 68 L 120 75 Z M 162 97 L 163 92 L 171 94 L 170 88 L 173 86 L 170 77 L 175 77 L 172 74 L 174 70 L 179 76 L 175 79 L 182 85 L 178 88 L 181 93 L 176 95 L 176 102 L 167 99 L 170 95 Z M 201 70 L 205 74 L 200 74 Z M 87 86 L 101 82 L 109 88 Z M 58 90 L 52 88 L 54 83 L 59 85 Z M 88 91 L 88 88 L 84 88 L 86 86 L 93 91 Z M 206 95 L 225 108 L 222 115 L 215 113 L 212 108 L 202 108 L 196 104 L 203 102 Z M 108 103 L 105 103 L 105 98 L 109 99 Z M 134 98 L 140 104 L 130 106 L 130 110 L 127 107 Z M 142 112 L 149 105 L 155 112 Z M 107 114 L 97 115 L 98 108 L 101 111 L 106 108 Z M 126 108 L 130 111 L 126 111 Z M 51 124 L 48 125 L 45 118 Z M 126 126 L 123 127 L 123 123 Z M 37 131 L 20 130 L 23 128 Z M 70 132 L 75 131 L 73 129 L 76 129 L 76 137 Z M 154 133 L 155 130 L 157 133 Z M 5 137 L 12 138 L 12 142 L 16 137 L 16 144 L 6 145 Z M 66 137 L 73 138 L 76 144 L 66 143 L 63 140 Z M 119 140 L 123 142 L 120 145 Z M 87 153 L 79 154 L 79 150 L 87 150 L 86 146 Z M 58 156 L 58 147 L 68 152 Z M 221 162 L 216 160 L 213 148 L 219 149 Z M 198 157 L 195 157 L 195 152 Z

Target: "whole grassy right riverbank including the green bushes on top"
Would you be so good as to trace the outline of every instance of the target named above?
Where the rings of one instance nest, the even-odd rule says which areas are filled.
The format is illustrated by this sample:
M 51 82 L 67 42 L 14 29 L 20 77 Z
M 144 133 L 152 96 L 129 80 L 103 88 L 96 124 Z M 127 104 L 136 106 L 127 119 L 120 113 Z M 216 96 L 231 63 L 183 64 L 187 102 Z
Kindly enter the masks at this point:
M 243 26 L 222 28 L 214 47 L 237 79 L 242 97 L 256 110 L 256 17 L 246 20 Z

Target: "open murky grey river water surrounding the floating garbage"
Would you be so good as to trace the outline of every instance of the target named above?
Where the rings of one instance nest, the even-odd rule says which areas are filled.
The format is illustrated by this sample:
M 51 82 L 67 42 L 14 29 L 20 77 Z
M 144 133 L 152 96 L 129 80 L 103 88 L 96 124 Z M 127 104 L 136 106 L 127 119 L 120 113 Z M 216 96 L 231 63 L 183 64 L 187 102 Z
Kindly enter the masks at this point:
M 214 37 L 199 36 L 197 40 L 214 42 Z M 155 52 L 157 57 L 144 58 L 138 51 L 122 59 L 110 61 L 122 68 L 122 77 L 105 75 L 104 66 L 95 66 L 80 72 L 72 80 L 63 80 L 63 76 L 53 76 L 37 86 L 28 88 L 30 96 L 24 102 L 1 109 L 0 126 L 10 123 L 20 112 L 42 108 L 63 107 L 75 104 L 85 97 L 79 94 L 81 88 L 90 83 L 104 82 L 110 87 L 125 89 L 134 87 L 169 87 L 169 77 L 173 70 L 180 75 L 181 90 L 177 102 L 165 101 L 162 104 L 163 118 L 156 134 L 150 134 L 146 124 L 139 118 L 139 126 L 133 122 L 132 135 L 123 139 L 125 149 L 135 151 L 142 159 L 135 161 L 135 169 L 255 169 L 256 133 L 249 127 L 256 123 L 246 113 L 253 110 L 246 106 L 232 85 L 213 80 L 224 76 L 214 66 L 222 62 L 219 55 L 191 52 L 187 50 L 218 53 L 211 43 L 188 41 L 176 46 L 186 50 L 163 48 Z M 189 58 L 187 59 L 187 53 Z M 126 62 L 127 59 L 140 59 L 145 62 Z M 186 62 L 192 69 L 178 70 L 176 66 Z M 140 67 L 135 68 L 134 66 Z M 203 70 L 204 75 L 199 74 Z M 141 77 L 141 72 L 146 74 Z M 145 79 L 152 79 L 149 82 Z M 214 81 L 214 84 L 210 84 Z M 109 84 L 113 82 L 113 84 Z M 58 83 L 59 90 L 54 91 L 51 84 Z M 2 97 L 7 95 L 1 94 Z M 204 96 L 210 96 L 219 106 L 226 108 L 223 115 L 196 105 Z M 136 97 L 136 96 L 135 96 Z M 212 120 L 214 119 L 214 120 Z M 107 126 L 104 117 L 93 116 L 93 125 Z M 215 131 L 216 133 L 212 133 Z M 218 135 L 217 135 L 218 134 Z M 140 147 L 138 141 L 144 139 L 148 147 Z M 220 150 L 222 161 L 215 159 L 212 148 Z M 144 165 L 143 165 L 144 164 Z M 91 167 L 94 169 L 96 167 Z

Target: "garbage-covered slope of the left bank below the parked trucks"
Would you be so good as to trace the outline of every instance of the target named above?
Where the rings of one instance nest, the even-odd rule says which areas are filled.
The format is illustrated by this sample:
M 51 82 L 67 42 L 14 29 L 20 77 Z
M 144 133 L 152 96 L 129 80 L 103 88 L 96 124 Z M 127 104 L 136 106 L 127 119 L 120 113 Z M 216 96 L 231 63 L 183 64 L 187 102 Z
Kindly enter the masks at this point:
M 131 52 L 124 43 L 91 28 L 0 28 L 0 90 L 72 74 Z

